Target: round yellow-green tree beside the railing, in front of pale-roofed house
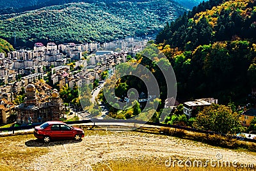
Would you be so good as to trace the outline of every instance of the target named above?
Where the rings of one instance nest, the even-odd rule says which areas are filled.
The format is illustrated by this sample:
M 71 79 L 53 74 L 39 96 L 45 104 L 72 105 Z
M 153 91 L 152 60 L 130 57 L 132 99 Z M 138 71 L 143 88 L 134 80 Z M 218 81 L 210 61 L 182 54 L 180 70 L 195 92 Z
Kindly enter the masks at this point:
M 230 107 L 216 104 L 205 107 L 199 112 L 193 125 L 200 130 L 225 134 L 235 134 L 243 130 L 236 112 L 232 112 Z

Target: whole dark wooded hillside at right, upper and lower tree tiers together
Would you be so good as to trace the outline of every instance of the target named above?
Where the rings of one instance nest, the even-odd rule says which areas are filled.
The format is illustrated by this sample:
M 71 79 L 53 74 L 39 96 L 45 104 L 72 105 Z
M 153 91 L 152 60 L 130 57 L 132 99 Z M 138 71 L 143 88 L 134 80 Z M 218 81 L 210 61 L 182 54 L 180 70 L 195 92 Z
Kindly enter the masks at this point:
M 202 3 L 167 24 L 156 42 L 175 70 L 179 98 L 248 103 L 256 87 L 255 1 L 216 3 Z

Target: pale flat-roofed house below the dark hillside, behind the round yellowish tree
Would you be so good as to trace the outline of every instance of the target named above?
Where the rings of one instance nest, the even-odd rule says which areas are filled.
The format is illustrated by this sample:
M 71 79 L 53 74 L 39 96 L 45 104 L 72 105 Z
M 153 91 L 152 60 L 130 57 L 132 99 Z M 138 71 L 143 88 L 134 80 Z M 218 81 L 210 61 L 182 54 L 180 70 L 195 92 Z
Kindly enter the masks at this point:
M 184 114 L 191 117 L 193 110 L 195 110 L 196 108 L 204 108 L 206 106 L 211 105 L 212 103 L 218 104 L 218 100 L 214 98 L 201 98 L 195 101 L 187 101 L 183 104 Z

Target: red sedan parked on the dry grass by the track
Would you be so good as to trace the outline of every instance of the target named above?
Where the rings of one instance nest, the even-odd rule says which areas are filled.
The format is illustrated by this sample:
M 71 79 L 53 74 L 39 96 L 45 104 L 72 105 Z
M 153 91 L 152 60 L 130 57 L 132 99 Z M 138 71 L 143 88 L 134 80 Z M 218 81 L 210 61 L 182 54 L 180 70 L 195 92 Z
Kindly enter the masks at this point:
M 81 140 L 84 137 L 84 131 L 80 128 L 68 126 L 61 121 L 48 121 L 35 127 L 34 135 L 44 142 L 50 142 L 57 139 Z

